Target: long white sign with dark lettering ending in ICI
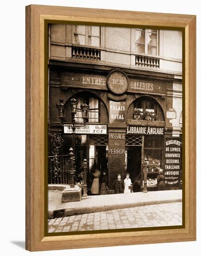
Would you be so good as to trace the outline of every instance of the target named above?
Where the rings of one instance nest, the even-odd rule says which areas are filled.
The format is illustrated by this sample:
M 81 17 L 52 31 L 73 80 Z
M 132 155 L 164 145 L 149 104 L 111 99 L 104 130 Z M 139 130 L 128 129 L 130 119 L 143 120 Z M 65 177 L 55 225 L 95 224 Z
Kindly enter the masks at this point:
M 64 126 L 64 133 L 71 134 L 72 129 L 69 126 Z M 107 125 L 85 125 L 80 128 L 76 128 L 76 134 L 107 134 Z

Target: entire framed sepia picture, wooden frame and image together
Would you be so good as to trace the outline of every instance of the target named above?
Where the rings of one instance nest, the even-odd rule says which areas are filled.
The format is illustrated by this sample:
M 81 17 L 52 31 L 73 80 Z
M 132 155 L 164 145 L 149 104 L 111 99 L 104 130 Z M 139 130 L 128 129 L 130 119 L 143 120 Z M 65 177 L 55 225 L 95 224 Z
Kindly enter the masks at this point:
M 26 7 L 26 249 L 196 239 L 196 16 Z

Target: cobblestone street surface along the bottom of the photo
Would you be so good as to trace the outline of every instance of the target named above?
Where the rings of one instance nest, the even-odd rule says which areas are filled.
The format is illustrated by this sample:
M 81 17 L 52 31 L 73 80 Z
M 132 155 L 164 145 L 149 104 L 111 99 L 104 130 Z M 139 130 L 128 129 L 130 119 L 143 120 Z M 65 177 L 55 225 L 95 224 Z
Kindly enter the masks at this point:
M 48 220 L 48 232 L 182 225 L 182 202 L 74 215 Z

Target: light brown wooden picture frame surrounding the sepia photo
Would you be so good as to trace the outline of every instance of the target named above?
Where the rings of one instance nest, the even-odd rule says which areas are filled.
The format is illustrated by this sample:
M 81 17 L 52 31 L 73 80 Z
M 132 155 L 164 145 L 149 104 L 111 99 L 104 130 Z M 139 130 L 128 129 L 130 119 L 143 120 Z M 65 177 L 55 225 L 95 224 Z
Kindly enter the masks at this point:
M 183 32 L 183 141 L 185 182 L 181 229 L 149 229 L 47 236 L 45 232 L 45 152 L 47 150 L 47 21 L 110 26 L 179 28 Z M 45 50 L 44 50 L 45 49 Z M 30 251 L 195 241 L 196 239 L 196 16 L 75 7 L 26 7 L 26 249 Z M 90 243 L 89 243 L 90 242 Z

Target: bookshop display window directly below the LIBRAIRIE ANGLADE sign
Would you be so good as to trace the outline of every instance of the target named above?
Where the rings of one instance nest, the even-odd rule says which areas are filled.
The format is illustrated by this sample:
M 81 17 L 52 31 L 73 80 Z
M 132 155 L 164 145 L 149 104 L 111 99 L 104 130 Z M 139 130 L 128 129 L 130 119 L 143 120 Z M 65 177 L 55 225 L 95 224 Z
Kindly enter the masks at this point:
M 162 168 L 163 137 L 144 136 L 144 159 L 149 161 L 148 172 L 156 172 L 156 168 Z

